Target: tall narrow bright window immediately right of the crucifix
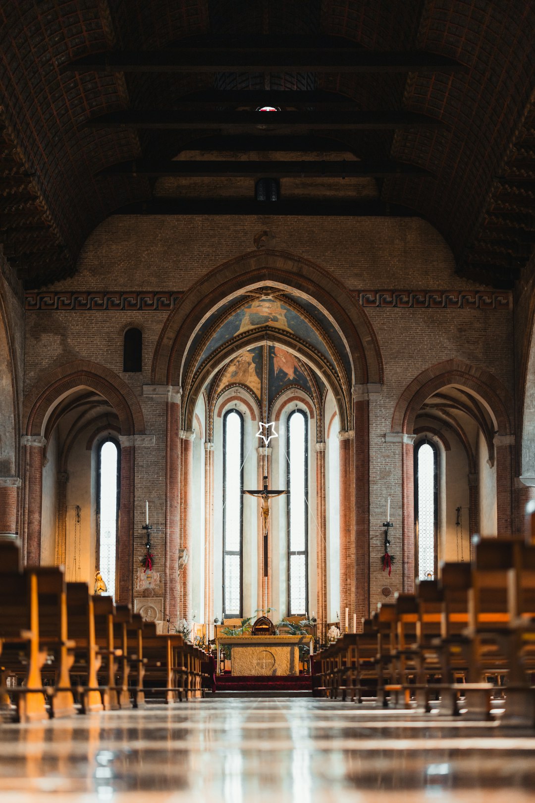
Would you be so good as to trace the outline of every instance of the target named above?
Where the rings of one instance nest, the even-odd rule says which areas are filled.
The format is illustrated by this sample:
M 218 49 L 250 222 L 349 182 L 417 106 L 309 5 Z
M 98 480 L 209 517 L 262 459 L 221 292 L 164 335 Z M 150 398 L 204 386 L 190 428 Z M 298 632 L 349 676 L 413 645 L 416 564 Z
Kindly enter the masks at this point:
M 288 416 L 288 613 L 308 607 L 308 426 L 302 410 Z

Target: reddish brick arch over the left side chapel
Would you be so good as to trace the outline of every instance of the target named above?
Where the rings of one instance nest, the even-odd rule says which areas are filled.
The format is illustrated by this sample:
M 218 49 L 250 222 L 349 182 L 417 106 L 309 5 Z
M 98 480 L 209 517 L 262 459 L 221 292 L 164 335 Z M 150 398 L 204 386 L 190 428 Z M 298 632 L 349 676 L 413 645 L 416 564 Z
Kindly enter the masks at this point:
M 51 406 L 59 397 L 80 385 L 100 393 L 116 410 L 121 434 L 144 433 L 143 411 L 126 382 L 104 365 L 89 360 L 77 360 L 47 373 L 26 395 L 22 409 L 26 434 L 43 434 L 43 424 Z

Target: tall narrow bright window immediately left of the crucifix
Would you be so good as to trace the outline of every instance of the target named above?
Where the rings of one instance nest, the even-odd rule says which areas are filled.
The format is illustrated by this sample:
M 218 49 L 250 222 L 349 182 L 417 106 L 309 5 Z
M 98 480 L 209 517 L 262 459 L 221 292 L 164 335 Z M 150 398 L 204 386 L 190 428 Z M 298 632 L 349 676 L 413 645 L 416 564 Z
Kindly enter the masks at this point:
M 225 617 L 241 616 L 243 416 L 223 418 L 223 601 Z

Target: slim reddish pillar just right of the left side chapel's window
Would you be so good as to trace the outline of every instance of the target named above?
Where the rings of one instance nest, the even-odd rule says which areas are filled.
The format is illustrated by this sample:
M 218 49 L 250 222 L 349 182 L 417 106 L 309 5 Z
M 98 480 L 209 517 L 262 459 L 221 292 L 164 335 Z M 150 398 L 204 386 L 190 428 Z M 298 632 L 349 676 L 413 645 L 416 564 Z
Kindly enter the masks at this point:
M 120 435 L 120 503 L 117 544 L 116 601 L 121 605 L 133 603 L 134 558 L 134 483 L 136 447 L 134 435 Z

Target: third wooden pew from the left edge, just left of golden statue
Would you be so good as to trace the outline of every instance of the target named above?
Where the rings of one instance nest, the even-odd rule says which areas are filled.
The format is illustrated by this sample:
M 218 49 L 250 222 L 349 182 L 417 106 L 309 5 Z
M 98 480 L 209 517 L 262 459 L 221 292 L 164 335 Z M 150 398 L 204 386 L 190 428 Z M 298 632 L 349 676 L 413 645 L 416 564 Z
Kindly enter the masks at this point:
M 71 676 L 78 680 L 82 712 L 102 711 L 97 673 L 102 655 L 95 640 L 95 609 L 87 583 L 67 583 L 67 634 L 75 642 Z

